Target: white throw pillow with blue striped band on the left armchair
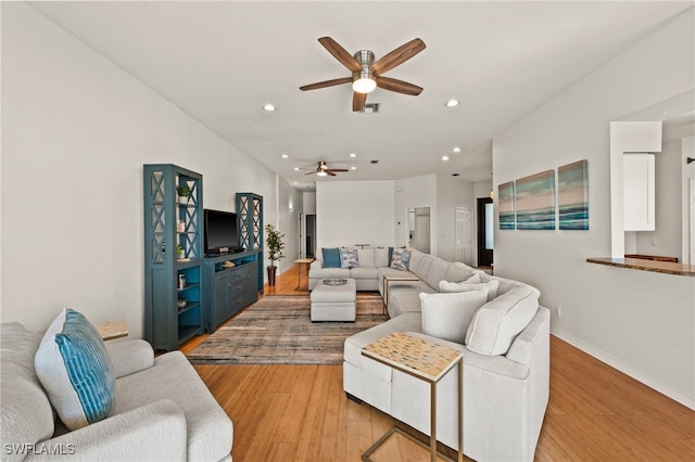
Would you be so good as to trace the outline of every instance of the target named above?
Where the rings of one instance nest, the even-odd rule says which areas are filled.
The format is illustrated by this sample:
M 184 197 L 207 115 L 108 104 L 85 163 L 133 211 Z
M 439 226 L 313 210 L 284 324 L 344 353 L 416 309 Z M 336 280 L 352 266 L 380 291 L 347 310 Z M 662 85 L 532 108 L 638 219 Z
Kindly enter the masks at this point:
M 116 380 L 104 342 L 79 312 L 63 309 L 34 358 L 36 375 L 70 429 L 110 415 Z

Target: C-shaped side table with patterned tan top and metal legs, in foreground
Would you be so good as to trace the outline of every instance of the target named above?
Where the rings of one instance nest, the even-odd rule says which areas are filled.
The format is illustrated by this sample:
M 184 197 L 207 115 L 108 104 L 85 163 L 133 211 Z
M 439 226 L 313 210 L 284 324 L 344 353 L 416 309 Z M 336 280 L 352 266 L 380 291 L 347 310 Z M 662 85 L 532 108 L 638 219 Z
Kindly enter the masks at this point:
M 390 365 L 414 377 L 430 384 L 430 457 L 437 461 L 437 383 L 454 367 L 458 365 L 458 462 L 464 460 L 464 354 L 453 348 L 437 345 L 422 338 L 402 332 L 394 332 L 363 348 L 362 354 L 375 361 Z M 372 462 L 369 458 L 391 435 L 400 433 L 420 446 L 427 447 L 418 439 L 393 426 L 377 442 L 371 445 L 362 460 Z M 448 458 L 442 453 L 440 457 Z

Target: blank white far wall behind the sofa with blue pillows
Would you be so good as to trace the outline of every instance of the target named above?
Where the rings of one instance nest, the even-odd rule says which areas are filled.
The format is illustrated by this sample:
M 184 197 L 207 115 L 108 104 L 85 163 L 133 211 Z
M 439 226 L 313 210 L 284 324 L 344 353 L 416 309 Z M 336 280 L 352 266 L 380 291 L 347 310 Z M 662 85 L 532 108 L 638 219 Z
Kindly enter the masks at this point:
M 393 181 L 316 183 L 316 248 L 355 244 L 393 245 Z

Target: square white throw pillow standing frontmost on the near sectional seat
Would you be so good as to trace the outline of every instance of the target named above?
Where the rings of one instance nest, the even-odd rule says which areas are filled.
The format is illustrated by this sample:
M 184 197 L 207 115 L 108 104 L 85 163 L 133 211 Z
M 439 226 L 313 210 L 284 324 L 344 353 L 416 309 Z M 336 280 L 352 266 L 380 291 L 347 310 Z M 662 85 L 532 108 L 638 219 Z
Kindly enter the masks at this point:
M 451 294 L 420 293 L 422 333 L 464 344 L 468 324 L 476 311 L 488 301 L 488 291 Z

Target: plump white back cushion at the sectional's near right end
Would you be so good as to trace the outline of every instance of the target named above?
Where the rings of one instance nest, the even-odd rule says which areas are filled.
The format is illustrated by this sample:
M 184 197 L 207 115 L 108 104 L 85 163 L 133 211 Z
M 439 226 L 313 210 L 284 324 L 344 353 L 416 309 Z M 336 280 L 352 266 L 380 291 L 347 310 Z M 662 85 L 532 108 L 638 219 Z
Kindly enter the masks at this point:
M 509 290 L 483 305 L 466 333 L 466 347 L 479 355 L 504 355 L 539 309 L 539 292 L 529 285 Z

